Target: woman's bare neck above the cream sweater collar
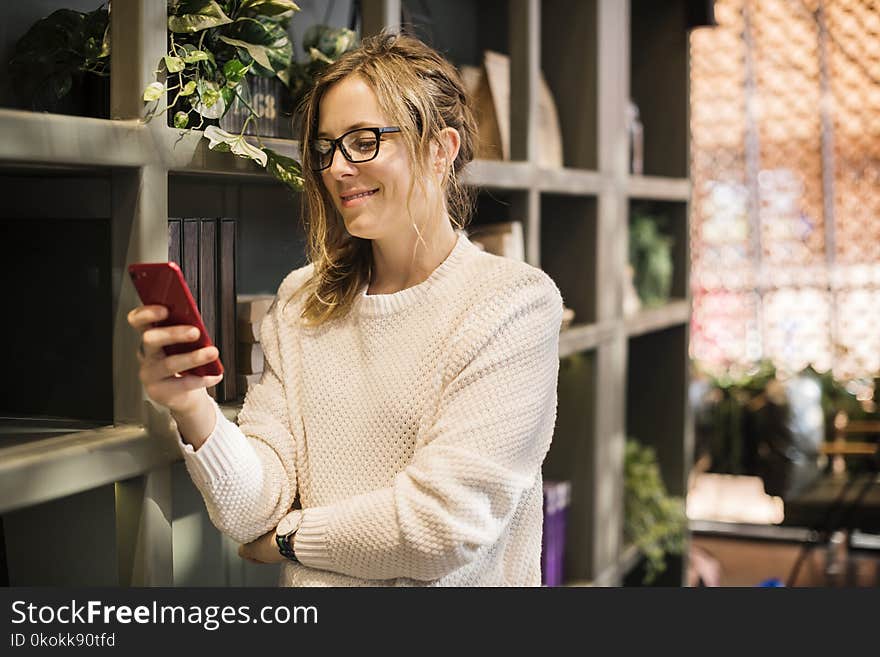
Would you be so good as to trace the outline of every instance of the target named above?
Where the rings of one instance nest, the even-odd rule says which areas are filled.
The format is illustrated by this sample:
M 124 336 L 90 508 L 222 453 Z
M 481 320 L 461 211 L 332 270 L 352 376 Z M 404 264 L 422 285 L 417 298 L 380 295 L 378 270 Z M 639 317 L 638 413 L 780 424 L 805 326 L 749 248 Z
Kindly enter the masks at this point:
M 455 248 L 457 235 L 448 216 L 434 229 L 415 229 L 393 239 L 373 240 L 373 266 L 367 294 L 393 294 L 424 282 Z

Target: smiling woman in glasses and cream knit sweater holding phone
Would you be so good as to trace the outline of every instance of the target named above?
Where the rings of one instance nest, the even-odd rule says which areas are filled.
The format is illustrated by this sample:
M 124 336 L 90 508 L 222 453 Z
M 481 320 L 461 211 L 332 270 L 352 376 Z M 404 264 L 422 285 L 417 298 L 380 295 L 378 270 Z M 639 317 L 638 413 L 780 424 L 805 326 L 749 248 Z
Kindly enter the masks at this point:
M 218 377 L 176 376 L 216 349 L 166 357 L 191 327 L 129 318 L 212 521 L 287 586 L 540 584 L 562 300 L 456 230 L 476 138 L 457 72 L 413 38 L 366 40 L 302 134 L 310 264 L 261 326 L 238 426 Z

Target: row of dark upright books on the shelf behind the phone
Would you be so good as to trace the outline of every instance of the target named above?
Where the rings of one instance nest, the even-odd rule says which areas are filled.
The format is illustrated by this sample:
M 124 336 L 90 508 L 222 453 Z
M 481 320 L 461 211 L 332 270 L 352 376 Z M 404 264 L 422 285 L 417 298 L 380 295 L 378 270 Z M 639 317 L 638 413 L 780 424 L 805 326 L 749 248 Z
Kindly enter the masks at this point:
M 235 220 L 170 218 L 168 259 L 177 262 L 220 352 L 223 380 L 208 389 L 219 402 L 238 397 L 235 345 Z

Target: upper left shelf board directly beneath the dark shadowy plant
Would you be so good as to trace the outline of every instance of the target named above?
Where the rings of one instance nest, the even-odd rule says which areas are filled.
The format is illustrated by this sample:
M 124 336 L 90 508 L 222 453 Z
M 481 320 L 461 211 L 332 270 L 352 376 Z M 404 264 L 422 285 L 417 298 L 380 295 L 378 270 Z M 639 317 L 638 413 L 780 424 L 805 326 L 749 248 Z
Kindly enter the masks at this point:
M 140 121 L 0 109 L 0 162 L 138 167 L 161 160 Z

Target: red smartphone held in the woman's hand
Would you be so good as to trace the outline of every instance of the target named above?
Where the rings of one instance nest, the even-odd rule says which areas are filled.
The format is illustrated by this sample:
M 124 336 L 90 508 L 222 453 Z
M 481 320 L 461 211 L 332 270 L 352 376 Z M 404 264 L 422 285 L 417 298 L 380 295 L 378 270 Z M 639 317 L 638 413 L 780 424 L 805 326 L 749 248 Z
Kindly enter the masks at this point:
M 154 326 L 189 325 L 199 329 L 199 339 L 195 342 L 181 342 L 163 347 L 169 356 L 185 354 L 213 345 L 199 307 L 196 305 L 183 272 L 176 262 L 138 262 L 128 266 L 128 274 L 145 306 L 165 306 L 168 317 Z M 195 376 L 216 376 L 223 374 L 220 359 L 186 370 L 183 374 Z

